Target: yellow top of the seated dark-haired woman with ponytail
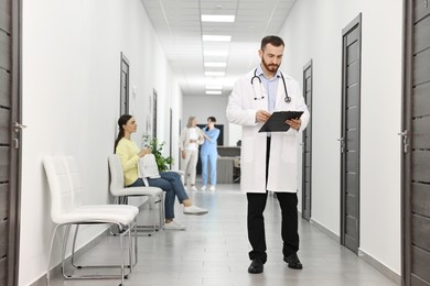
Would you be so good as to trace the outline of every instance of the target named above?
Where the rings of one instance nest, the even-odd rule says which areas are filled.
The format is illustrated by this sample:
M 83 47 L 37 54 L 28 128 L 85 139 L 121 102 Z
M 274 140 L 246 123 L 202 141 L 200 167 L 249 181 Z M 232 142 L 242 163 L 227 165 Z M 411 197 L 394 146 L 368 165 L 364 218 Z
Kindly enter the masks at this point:
M 135 141 L 122 138 L 115 150 L 119 156 L 123 169 L 125 185 L 129 186 L 139 178 L 138 163 L 139 163 L 139 147 Z

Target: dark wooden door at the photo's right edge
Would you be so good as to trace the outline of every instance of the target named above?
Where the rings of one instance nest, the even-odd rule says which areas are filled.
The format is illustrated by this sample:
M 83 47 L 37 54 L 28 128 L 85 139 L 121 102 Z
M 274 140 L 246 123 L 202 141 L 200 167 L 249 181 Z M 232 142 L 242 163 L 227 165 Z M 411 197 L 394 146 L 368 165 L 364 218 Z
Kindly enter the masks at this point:
M 405 1 L 402 285 L 430 286 L 430 8 Z

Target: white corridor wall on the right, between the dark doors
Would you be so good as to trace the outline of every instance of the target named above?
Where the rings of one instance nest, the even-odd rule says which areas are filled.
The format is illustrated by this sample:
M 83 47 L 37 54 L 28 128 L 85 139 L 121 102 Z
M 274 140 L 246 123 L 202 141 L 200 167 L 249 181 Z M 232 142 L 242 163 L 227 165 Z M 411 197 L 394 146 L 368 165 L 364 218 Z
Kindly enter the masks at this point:
M 363 13 L 359 249 L 400 268 L 400 0 L 299 0 L 280 36 L 282 68 L 302 82 L 313 61 L 312 219 L 340 235 L 342 29 Z

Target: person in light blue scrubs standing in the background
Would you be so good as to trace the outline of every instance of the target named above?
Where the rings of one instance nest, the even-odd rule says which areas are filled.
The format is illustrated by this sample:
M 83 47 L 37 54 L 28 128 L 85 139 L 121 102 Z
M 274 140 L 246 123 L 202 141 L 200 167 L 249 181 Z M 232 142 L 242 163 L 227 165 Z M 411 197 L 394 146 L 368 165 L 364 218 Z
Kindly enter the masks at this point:
M 203 135 L 205 141 L 200 150 L 200 158 L 202 162 L 202 180 L 203 187 L 202 190 L 206 189 L 207 185 L 207 163 L 209 164 L 209 175 L 211 175 L 211 188 L 209 190 L 215 190 L 216 185 L 216 161 L 218 158 L 217 143 L 219 136 L 219 129 L 215 128 L 216 118 L 207 118 L 207 127 L 203 129 Z

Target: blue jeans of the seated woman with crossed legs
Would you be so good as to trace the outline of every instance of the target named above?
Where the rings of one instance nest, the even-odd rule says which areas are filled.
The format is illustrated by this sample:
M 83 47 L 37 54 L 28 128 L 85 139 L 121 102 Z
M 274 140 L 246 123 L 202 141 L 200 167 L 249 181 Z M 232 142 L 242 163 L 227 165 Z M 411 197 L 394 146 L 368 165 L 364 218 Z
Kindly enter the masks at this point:
M 186 196 L 184 185 L 182 185 L 181 176 L 175 172 L 160 172 L 161 178 L 148 178 L 148 184 L 151 187 L 158 187 L 165 191 L 164 199 L 164 212 L 165 219 L 174 218 L 174 199 L 175 196 L 178 200 L 182 204 Z M 141 187 L 144 186 L 143 179 L 138 178 L 133 184 L 128 185 L 127 187 Z

